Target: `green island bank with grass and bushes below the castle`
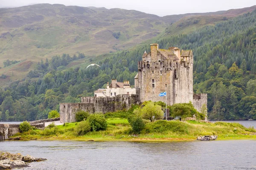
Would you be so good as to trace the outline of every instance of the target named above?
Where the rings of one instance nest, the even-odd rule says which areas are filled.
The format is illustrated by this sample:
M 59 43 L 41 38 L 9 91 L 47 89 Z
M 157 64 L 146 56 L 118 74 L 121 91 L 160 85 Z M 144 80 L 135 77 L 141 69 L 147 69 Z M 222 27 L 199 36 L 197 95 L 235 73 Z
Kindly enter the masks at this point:
M 20 132 L 10 140 L 73 140 L 73 141 L 194 141 L 198 136 L 218 136 L 218 140 L 254 139 L 254 127 L 239 123 L 203 121 L 205 114 L 191 103 L 167 106 L 177 120 L 163 120 L 164 103 L 146 101 L 129 110 L 105 114 L 79 110 L 76 121 L 44 130 L 33 128 L 29 122 L 20 124 Z M 186 120 L 195 116 L 197 120 Z M 182 120 L 182 121 L 181 121 Z M 186 120 L 186 121 L 185 121 Z

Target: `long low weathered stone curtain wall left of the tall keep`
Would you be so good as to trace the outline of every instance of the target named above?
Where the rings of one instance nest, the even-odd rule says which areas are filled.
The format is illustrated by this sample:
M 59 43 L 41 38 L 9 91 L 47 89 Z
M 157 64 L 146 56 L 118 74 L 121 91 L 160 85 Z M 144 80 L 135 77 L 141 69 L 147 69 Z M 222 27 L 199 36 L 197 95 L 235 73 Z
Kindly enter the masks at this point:
M 132 104 L 139 104 L 137 95 L 117 95 L 115 97 L 82 97 L 81 103 L 61 103 L 61 123 L 75 122 L 75 113 L 84 110 L 94 112 L 115 112 L 117 110 L 129 109 Z

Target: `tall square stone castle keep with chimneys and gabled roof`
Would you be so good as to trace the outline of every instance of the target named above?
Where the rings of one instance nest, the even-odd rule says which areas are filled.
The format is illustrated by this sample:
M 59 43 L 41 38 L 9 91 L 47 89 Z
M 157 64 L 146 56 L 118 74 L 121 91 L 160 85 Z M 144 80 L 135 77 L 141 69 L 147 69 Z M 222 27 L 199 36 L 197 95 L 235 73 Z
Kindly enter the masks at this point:
M 151 44 L 151 51 L 144 52 L 138 62 L 138 74 L 135 87 L 138 98 L 143 101 L 166 101 L 158 97 L 167 93 L 167 104 L 193 102 L 193 53 L 177 47 L 159 49 L 158 44 Z

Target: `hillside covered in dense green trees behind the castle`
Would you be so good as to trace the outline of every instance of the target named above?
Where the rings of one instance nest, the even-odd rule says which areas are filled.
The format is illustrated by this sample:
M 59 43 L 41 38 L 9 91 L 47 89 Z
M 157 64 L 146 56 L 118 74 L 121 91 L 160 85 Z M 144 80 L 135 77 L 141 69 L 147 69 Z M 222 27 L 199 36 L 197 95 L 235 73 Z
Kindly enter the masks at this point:
M 208 93 L 210 119 L 256 119 L 256 11 L 190 34 L 170 35 L 166 29 L 161 36 L 131 50 L 94 58 L 101 67 L 85 69 L 89 63 L 72 67 L 83 61 L 83 54 L 39 62 L 24 80 L 0 91 L 0 120 L 46 118 L 60 102 L 79 102 L 80 96 L 93 95 L 111 78 L 134 84 L 137 61 L 149 51 L 149 43 L 193 50 L 194 91 Z

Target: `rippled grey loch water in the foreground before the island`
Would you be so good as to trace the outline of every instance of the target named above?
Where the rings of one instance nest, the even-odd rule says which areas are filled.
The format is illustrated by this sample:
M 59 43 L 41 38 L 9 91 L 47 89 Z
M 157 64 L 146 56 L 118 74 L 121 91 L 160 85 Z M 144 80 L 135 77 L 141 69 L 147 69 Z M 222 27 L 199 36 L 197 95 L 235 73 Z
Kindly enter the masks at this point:
M 0 150 L 47 158 L 23 170 L 256 170 L 256 141 L 1 141 Z

